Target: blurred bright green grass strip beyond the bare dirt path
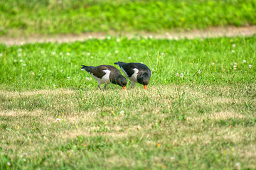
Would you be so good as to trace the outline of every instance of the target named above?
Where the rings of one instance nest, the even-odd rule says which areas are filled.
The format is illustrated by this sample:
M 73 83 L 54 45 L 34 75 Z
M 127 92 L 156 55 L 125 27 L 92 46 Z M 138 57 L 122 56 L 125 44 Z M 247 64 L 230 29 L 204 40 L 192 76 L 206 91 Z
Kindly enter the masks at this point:
M 256 1 L 0 1 L 0 35 L 163 32 L 256 24 Z

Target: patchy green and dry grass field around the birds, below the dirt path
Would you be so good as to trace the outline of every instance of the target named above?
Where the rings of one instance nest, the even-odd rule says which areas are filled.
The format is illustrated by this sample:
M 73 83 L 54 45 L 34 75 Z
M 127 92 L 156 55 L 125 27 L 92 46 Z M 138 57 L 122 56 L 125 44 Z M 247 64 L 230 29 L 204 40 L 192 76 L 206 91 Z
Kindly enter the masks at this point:
M 256 169 L 255 46 L 255 36 L 2 44 L 0 169 Z M 117 61 L 148 65 L 148 89 L 99 90 L 80 69 Z

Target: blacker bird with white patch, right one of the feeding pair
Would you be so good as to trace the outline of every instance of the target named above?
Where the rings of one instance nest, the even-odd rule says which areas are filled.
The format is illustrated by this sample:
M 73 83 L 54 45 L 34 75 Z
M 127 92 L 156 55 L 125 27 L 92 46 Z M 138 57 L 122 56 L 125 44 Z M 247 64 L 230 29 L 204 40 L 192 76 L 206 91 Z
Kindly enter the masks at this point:
M 114 62 L 119 65 L 124 72 L 124 75 L 131 81 L 131 87 L 134 88 L 135 83 L 142 84 L 146 90 L 147 85 L 151 77 L 151 71 L 149 67 L 141 63 L 126 63 L 126 62 Z

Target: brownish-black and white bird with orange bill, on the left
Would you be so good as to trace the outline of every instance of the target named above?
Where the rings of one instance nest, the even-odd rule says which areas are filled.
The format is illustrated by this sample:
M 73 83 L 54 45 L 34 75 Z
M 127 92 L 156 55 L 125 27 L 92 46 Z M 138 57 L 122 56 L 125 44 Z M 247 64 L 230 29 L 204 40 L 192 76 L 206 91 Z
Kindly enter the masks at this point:
M 98 88 L 100 89 L 100 84 L 105 84 L 104 89 L 106 89 L 107 84 L 117 84 L 122 86 L 125 90 L 127 86 L 127 79 L 121 74 L 119 69 L 111 65 L 100 65 L 97 67 L 82 65 L 81 69 L 85 69 L 86 72 L 92 75 L 98 82 Z

